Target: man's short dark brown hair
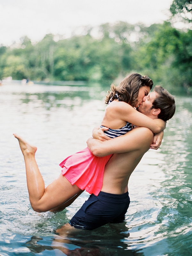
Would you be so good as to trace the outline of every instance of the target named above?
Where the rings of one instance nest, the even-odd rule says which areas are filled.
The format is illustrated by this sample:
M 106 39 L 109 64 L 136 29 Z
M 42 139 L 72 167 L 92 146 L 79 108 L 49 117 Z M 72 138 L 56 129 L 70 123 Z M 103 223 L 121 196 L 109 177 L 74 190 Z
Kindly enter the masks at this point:
M 164 121 L 171 119 L 175 113 L 174 97 L 160 85 L 156 85 L 154 87 L 154 91 L 159 95 L 154 100 L 151 109 L 161 110 L 160 114 L 158 114 L 158 118 Z

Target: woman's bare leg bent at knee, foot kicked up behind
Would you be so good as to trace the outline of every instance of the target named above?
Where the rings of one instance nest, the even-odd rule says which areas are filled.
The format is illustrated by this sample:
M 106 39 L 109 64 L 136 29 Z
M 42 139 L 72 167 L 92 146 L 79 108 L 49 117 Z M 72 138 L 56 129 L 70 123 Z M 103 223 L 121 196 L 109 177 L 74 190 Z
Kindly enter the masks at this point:
M 45 212 L 53 209 L 59 210 L 61 206 L 61 209 L 64 209 L 70 205 L 82 190 L 72 185 L 62 174 L 45 188 L 35 159 L 36 146 L 30 145 L 17 134 L 14 136 L 18 139 L 24 156 L 31 207 L 37 212 Z

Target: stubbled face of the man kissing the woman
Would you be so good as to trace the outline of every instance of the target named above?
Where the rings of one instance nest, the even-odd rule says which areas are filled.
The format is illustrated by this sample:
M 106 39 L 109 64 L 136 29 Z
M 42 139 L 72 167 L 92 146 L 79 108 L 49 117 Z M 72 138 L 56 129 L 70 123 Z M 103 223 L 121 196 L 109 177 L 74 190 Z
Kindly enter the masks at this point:
M 157 92 L 149 93 L 147 96 L 143 97 L 143 101 L 141 102 L 140 106 L 137 107 L 137 111 L 140 113 L 150 116 L 152 114 L 153 109 L 152 105 L 155 98 L 158 96 Z

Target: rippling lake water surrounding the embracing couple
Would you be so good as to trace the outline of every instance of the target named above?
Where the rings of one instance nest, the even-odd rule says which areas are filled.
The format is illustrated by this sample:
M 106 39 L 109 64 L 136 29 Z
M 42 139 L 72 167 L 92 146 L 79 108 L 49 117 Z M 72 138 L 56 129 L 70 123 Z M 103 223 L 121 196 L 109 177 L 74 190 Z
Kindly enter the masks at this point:
M 176 97 L 176 114 L 167 123 L 162 146 L 158 151 L 149 150 L 133 172 L 124 226 L 105 225 L 56 240 L 55 230 L 76 213 L 89 196 L 86 192 L 59 213 L 31 209 L 23 156 L 12 133 L 38 147 L 36 159 L 47 185 L 60 174 L 58 164 L 83 149 L 92 128 L 100 124 L 107 89 L 19 84 L 0 87 L 0 256 L 192 255 L 189 96 Z

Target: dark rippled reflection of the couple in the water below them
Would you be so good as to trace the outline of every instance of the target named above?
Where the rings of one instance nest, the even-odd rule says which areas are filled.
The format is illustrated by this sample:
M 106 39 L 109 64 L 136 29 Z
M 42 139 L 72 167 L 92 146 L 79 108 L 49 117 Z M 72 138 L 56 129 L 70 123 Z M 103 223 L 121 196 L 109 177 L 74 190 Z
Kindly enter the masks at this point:
M 55 255 L 143 255 L 143 253 L 137 253 L 139 250 L 129 250 L 129 245 L 124 242 L 124 237 L 128 237 L 129 233 L 125 235 L 126 231 L 122 231 L 124 227 L 118 228 L 119 230 L 106 225 L 96 231 L 81 230 L 76 234 L 55 235 L 54 238 L 32 236 L 24 246 L 33 253 L 54 250 Z

